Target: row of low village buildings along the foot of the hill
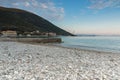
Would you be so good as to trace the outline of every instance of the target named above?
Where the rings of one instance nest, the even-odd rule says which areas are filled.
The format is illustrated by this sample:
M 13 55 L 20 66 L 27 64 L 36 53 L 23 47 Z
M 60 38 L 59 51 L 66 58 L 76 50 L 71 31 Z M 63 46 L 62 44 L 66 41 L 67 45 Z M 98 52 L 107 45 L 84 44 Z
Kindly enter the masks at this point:
M 23 33 L 14 30 L 5 30 L 5 31 L 0 31 L 0 36 L 1 37 L 55 37 L 57 35 L 56 33 L 53 32 L 40 32 L 39 30 L 32 32 L 23 32 Z

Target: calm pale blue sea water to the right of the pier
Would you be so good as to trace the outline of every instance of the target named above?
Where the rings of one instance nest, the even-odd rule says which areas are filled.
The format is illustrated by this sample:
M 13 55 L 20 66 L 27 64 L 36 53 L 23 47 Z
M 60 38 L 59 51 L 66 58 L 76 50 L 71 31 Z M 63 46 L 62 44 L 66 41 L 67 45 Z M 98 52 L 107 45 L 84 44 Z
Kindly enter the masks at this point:
M 61 46 L 120 53 L 120 36 L 61 37 Z

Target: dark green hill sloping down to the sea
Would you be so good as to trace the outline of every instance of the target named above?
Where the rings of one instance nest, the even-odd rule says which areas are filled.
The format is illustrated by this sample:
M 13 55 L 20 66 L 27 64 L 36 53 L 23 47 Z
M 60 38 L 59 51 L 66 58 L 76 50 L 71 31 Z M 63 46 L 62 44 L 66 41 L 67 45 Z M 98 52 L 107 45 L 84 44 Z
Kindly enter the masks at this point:
M 57 35 L 73 36 L 73 34 L 36 14 L 21 9 L 5 7 L 0 7 L 0 30 L 16 30 L 18 32 L 39 30 L 40 32 L 54 32 Z

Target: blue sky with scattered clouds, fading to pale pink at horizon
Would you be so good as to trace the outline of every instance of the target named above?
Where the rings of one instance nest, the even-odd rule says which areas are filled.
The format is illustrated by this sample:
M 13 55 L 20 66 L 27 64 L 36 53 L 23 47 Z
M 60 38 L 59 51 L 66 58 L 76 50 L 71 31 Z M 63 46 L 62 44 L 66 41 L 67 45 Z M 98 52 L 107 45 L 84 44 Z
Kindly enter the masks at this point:
M 119 34 L 120 0 L 0 0 L 33 12 L 74 34 Z

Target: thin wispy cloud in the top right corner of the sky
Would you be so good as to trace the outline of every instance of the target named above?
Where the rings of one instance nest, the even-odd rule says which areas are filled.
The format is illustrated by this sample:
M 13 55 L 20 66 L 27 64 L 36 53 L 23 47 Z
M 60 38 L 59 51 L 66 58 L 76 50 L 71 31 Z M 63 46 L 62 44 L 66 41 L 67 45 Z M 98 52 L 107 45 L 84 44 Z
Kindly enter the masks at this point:
M 120 0 L 89 0 L 89 9 L 120 8 Z

